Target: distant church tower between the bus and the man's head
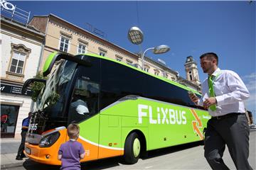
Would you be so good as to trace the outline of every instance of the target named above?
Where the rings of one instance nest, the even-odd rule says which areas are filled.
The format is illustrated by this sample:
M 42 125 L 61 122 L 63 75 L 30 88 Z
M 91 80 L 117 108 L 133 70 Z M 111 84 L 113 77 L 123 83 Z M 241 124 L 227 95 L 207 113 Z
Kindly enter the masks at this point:
M 188 81 L 191 81 L 193 84 L 196 84 L 199 86 L 201 82 L 199 81 L 198 67 L 195 60 L 193 60 L 192 56 L 188 56 L 186 58 L 186 62 L 184 66 L 186 70 L 186 79 Z

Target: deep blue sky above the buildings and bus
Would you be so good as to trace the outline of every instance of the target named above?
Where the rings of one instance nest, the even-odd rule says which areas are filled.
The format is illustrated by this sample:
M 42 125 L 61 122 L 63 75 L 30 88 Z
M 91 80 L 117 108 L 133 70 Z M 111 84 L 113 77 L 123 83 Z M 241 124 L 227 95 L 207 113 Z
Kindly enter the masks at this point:
M 144 33 L 142 50 L 169 45 L 166 54 L 146 56 L 164 60 L 186 78 L 184 63 L 193 56 L 203 74 L 199 57 L 215 52 L 220 69 L 237 72 L 250 91 L 247 110 L 256 112 L 256 1 L 8 1 L 32 16 L 53 13 L 80 28 L 90 23 L 105 39 L 130 52 L 139 52 L 127 38 L 129 28 Z M 256 114 L 255 114 L 256 115 Z M 255 116 L 256 118 L 256 116 Z M 256 120 L 255 120 L 256 122 Z

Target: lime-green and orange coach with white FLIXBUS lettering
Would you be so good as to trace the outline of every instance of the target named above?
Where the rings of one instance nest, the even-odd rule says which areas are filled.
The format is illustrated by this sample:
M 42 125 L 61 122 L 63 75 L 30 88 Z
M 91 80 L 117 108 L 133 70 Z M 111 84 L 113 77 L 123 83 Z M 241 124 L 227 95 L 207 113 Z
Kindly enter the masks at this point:
M 57 66 L 55 66 L 57 65 Z M 51 70 L 53 69 L 53 70 Z M 53 52 L 43 67 L 46 85 L 36 101 L 26 136 L 26 156 L 60 165 L 58 149 L 67 126 L 78 123 L 87 162 L 203 140 L 210 118 L 188 97 L 187 86 L 100 55 Z M 197 91 L 193 91 L 200 96 Z

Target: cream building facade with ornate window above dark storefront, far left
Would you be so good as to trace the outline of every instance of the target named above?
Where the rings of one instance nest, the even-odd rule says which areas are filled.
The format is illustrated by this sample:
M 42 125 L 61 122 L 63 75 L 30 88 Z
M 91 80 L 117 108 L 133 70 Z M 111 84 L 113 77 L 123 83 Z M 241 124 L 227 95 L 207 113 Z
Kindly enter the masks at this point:
M 1 16 L 1 137 L 21 137 L 22 120 L 31 111 L 31 91 L 23 95 L 21 88 L 36 76 L 43 40 L 35 28 Z

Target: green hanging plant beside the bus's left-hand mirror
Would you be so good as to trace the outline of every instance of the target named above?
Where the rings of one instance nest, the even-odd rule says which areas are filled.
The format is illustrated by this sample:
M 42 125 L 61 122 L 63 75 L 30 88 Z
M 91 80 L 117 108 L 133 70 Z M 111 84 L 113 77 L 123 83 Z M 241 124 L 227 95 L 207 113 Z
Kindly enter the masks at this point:
M 41 72 L 38 72 L 36 74 L 36 77 L 34 78 L 37 78 L 37 79 L 47 79 L 47 77 L 43 77 L 43 74 Z M 45 86 L 45 84 L 43 84 L 42 82 L 34 82 L 32 85 L 31 85 L 31 91 L 32 91 L 32 100 L 33 101 L 36 101 L 36 99 L 38 98 L 40 92 L 41 92 L 41 89 L 43 89 Z

